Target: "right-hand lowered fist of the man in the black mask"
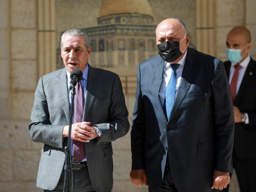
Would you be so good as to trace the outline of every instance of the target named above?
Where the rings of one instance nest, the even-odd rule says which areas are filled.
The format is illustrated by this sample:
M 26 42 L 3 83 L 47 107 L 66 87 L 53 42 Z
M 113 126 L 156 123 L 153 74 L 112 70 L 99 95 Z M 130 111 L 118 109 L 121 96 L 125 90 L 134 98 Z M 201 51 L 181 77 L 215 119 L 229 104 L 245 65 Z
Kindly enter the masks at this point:
M 222 190 L 230 183 L 230 177 L 228 172 L 214 171 L 213 173 L 213 185 L 211 189 Z

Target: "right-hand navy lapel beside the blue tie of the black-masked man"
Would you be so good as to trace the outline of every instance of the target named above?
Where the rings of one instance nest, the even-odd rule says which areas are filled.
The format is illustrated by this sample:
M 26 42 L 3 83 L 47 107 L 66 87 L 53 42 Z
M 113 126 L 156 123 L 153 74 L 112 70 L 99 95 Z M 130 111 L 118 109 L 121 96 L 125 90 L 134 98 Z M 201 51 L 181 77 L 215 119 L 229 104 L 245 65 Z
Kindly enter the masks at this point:
M 195 54 L 192 53 L 192 50 L 190 50 L 189 48 L 187 51 L 188 51 L 187 58 L 186 58 L 183 72 L 181 75 L 180 85 L 179 85 L 177 94 L 174 99 L 171 115 L 170 115 L 168 122 L 170 122 L 170 120 L 174 116 L 175 112 L 180 107 L 180 104 L 181 104 L 182 100 L 184 99 L 184 97 L 186 96 L 188 89 L 189 89 L 189 87 L 194 79 L 194 76 L 196 74 L 196 71 L 197 71 L 197 67 L 195 65 L 196 56 L 195 56 Z

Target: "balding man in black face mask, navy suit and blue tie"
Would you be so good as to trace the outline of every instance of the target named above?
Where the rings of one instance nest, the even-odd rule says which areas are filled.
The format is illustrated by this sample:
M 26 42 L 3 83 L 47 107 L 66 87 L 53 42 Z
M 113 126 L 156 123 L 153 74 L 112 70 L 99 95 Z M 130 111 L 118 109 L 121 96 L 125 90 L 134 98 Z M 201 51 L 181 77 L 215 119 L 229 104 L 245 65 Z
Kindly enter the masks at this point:
M 232 172 L 234 116 L 223 63 L 188 48 L 180 19 L 156 28 L 159 55 L 138 67 L 132 184 L 149 192 L 213 192 Z

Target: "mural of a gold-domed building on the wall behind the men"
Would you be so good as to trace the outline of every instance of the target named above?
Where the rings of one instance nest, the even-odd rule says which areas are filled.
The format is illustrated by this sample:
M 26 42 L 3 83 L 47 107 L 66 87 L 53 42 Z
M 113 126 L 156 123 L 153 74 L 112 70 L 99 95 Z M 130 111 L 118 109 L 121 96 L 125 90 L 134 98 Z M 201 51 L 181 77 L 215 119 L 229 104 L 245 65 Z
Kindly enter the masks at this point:
M 76 13 L 73 11 L 79 6 L 83 6 L 79 4 L 81 0 L 72 3 L 69 1 L 69 3 L 57 2 L 57 5 L 61 7 L 59 11 L 57 10 L 60 12 L 58 15 L 62 16 L 59 19 L 60 23 L 66 22 L 63 19 L 63 12 L 68 10 L 71 14 L 70 18 L 75 18 Z M 88 1 L 84 2 L 88 3 Z M 168 6 L 172 7 L 172 4 L 169 2 Z M 84 30 L 90 38 L 92 55 L 88 60 L 89 64 L 117 73 L 121 78 L 124 92 L 135 93 L 137 66 L 140 62 L 158 55 L 155 32 L 157 24 L 167 17 L 180 17 L 180 9 L 187 14 L 191 14 L 189 10 L 193 10 L 193 6 L 185 1 L 179 4 L 175 10 L 168 12 L 167 16 L 161 15 L 165 7 L 163 5 L 161 7 L 157 0 L 99 0 L 90 4 L 94 5 L 92 9 L 96 14 L 81 15 L 82 18 L 79 16 L 79 20 L 76 17 L 70 22 L 73 24 L 75 21 L 77 24 L 74 23 L 74 27 Z M 86 7 L 90 7 L 90 5 L 86 5 Z M 163 12 L 165 11 L 163 10 Z M 94 24 L 84 27 L 88 26 L 88 20 L 93 20 Z M 189 46 L 195 48 L 196 39 L 193 36 L 195 25 L 193 23 L 188 23 L 189 34 L 192 36 Z M 72 28 L 72 25 L 68 25 L 67 22 L 64 28 L 67 30 Z M 60 31 L 60 36 L 63 32 Z M 58 40 L 57 62 L 57 68 L 63 68 L 64 64 L 60 56 L 60 40 Z

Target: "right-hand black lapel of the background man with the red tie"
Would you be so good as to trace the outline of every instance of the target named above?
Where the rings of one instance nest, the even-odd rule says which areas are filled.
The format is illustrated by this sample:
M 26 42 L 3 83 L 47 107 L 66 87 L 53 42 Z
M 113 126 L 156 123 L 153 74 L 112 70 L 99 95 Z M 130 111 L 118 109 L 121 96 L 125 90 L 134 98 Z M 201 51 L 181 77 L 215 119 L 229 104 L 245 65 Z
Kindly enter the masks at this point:
M 242 98 L 246 88 L 248 87 L 248 85 L 250 85 L 250 82 L 252 81 L 253 75 L 249 75 L 249 74 L 250 74 L 250 72 L 255 70 L 254 67 L 255 66 L 254 66 L 252 58 L 251 58 L 248 66 L 245 70 L 244 78 L 243 78 L 242 83 L 239 87 L 238 93 L 236 95 L 236 100 L 235 100 L 235 103 L 234 103 L 235 106 L 238 104 L 238 102 Z

